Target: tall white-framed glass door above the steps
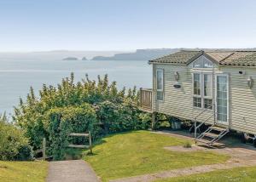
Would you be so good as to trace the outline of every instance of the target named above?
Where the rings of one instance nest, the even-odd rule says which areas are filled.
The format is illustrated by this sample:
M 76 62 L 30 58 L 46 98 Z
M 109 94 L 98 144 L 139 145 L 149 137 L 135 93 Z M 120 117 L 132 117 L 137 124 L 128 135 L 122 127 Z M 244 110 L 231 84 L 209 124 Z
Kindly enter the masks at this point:
M 228 75 L 216 76 L 217 122 L 229 124 L 229 80 Z

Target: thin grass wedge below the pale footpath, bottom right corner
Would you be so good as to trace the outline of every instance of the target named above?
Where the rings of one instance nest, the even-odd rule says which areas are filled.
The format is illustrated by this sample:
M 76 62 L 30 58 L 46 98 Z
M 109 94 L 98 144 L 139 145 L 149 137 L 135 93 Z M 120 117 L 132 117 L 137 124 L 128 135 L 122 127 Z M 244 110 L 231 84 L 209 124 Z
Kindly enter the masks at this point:
M 210 173 L 194 174 L 173 179 L 156 180 L 157 182 L 228 182 L 228 181 L 256 181 L 256 167 L 233 168 L 218 170 Z

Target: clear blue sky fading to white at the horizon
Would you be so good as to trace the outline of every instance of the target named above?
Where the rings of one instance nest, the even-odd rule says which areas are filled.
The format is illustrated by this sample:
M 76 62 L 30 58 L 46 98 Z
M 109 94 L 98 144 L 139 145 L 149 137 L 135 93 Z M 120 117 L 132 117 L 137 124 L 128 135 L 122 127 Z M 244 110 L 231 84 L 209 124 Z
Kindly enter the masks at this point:
M 255 0 L 0 1 L 0 52 L 252 47 Z

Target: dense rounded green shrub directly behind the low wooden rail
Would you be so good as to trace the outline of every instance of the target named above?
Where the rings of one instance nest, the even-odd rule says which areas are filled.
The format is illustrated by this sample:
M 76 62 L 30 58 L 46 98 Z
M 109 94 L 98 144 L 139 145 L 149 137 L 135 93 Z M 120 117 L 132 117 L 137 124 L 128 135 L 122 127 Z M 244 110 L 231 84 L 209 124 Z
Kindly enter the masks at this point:
M 52 109 L 48 115 L 49 151 L 54 160 L 61 160 L 65 156 L 69 143 L 81 145 L 87 141 L 84 137 L 73 139 L 68 134 L 92 131 L 92 136 L 96 136 L 99 130 L 96 112 L 89 104 Z

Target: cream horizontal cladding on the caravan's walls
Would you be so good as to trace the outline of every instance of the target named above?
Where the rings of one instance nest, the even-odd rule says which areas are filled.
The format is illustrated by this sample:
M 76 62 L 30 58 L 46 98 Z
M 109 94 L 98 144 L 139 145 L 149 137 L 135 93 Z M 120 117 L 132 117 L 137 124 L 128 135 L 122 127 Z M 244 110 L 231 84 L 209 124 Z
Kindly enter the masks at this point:
M 156 74 L 160 70 L 163 74 L 163 99 L 157 100 Z M 153 111 L 193 120 L 202 111 L 202 108 L 195 107 L 193 103 L 193 73 L 196 71 L 199 70 L 193 68 L 191 64 L 153 64 Z M 253 85 L 253 80 L 256 80 L 256 69 L 214 65 L 212 67 L 212 100 L 214 103 L 216 101 L 216 75 L 219 74 L 227 75 L 228 78 L 228 125 L 230 129 L 256 134 L 256 87 Z M 176 84 L 179 84 L 180 88 L 174 87 Z M 212 116 L 212 113 L 212 110 L 205 111 L 198 121 L 204 122 Z M 213 124 L 214 117 L 211 117 L 207 123 Z

